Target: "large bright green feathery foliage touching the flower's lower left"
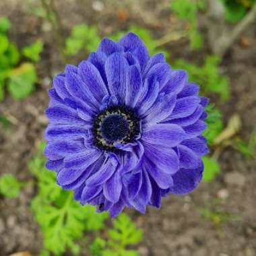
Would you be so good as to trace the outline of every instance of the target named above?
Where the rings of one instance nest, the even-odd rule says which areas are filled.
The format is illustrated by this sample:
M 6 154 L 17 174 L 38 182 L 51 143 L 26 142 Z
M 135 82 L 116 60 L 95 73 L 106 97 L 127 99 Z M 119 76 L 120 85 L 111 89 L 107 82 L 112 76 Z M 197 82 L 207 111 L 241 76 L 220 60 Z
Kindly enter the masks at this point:
M 83 236 L 84 230 L 100 230 L 108 214 L 98 214 L 91 205 L 82 206 L 73 199 L 72 191 L 65 191 L 56 184 L 56 174 L 46 170 L 42 156 L 44 143 L 40 151 L 28 163 L 38 180 L 38 194 L 32 199 L 32 211 L 44 236 L 44 251 L 61 255 L 69 247 L 75 254 L 79 246 L 76 238 Z

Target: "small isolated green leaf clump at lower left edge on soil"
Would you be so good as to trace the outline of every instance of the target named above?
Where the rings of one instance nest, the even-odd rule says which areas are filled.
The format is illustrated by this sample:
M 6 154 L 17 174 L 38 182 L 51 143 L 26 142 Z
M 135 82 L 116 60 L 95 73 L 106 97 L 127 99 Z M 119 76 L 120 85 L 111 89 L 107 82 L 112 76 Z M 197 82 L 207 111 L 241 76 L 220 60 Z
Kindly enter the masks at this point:
M 3 174 L 0 177 L 0 194 L 7 198 L 16 198 L 20 194 L 20 189 L 24 187 L 21 183 L 11 174 Z

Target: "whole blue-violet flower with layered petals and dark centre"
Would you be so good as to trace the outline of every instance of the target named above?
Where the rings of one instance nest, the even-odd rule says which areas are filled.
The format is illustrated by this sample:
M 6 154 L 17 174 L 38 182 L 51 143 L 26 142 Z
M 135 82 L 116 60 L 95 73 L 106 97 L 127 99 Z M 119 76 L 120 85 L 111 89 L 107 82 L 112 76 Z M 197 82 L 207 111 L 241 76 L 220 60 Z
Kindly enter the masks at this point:
M 193 191 L 207 143 L 207 98 L 133 33 L 104 38 L 78 67 L 53 79 L 44 154 L 57 183 L 75 200 L 115 217 L 145 213 L 162 197 Z

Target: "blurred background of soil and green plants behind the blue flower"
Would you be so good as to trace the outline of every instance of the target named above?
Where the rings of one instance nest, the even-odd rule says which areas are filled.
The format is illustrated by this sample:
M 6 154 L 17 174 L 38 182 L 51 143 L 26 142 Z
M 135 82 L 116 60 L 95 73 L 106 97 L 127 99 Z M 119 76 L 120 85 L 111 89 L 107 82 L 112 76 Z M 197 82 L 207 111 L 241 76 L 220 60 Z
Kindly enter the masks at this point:
M 0 1 L 0 256 L 255 256 L 255 0 Z M 80 206 L 44 168 L 53 76 L 141 36 L 210 98 L 203 182 L 145 215 Z

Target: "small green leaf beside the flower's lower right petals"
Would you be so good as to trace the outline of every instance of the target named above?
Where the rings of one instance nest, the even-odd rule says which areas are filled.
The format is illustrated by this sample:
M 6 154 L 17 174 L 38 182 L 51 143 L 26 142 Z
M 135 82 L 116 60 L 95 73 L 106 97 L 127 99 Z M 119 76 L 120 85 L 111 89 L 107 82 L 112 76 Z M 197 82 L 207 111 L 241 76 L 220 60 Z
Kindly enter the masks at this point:
M 220 172 L 220 164 L 209 156 L 203 156 L 203 164 L 203 181 L 213 181 L 216 175 Z

